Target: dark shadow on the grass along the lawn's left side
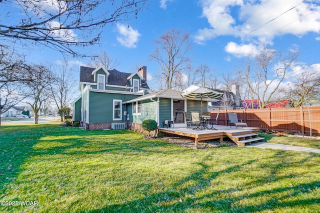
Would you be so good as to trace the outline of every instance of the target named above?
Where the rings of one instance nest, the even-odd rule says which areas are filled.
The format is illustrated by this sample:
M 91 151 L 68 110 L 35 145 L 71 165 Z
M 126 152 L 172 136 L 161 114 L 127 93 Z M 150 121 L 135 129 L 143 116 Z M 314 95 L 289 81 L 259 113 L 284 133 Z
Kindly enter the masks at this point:
M 107 151 L 124 150 L 129 148 L 126 143 L 110 141 L 109 144 L 100 142 L 99 150 L 90 150 L 86 137 L 95 137 L 96 141 L 101 138 L 115 139 L 119 134 L 128 134 L 122 130 L 91 130 L 80 128 L 66 128 L 58 124 L 22 124 L 5 125 L 0 127 L 0 194 L 4 195 L 5 187 L 12 182 L 23 170 L 21 165 L 30 157 L 43 154 L 91 154 Z M 50 137 L 51 139 L 41 139 Z M 67 137 L 68 139 L 63 139 Z M 62 139 L 55 139 L 62 138 Z M 76 138 L 76 139 L 74 139 Z M 127 139 L 129 140 L 129 138 Z M 103 139 L 102 139 L 103 141 Z M 55 146 L 55 143 L 58 145 Z M 36 148 L 44 144 L 43 148 Z M 96 146 L 96 144 L 94 144 Z M 87 147 L 87 148 L 86 148 Z M 68 151 L 68 149 L 79 149 Z M 80 150 L 85 149 L 85 150 Z M 2 197 L 0 195 L 0 198 Z

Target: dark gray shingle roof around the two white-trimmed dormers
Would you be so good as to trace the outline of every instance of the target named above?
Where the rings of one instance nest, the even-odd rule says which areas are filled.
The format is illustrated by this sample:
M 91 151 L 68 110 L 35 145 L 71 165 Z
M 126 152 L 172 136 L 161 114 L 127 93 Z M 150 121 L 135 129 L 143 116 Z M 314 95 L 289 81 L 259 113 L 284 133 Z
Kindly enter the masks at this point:
M 80 66 L 80 82 L 89 82 L 93 83 L 93 75 L 91 74 L 95 68 Z M 130 81 L 127 79 L 131 73 L 127 72 L 120 72 L 116 69 L 108 70 L 110 73 L 108 76 L 107 84 L 110 85 L 119 85 L 119 86 L 132 86 Z M 145 79 L 141 80 L 141 88 L 149 88 L 148 84 L 146 83 Z

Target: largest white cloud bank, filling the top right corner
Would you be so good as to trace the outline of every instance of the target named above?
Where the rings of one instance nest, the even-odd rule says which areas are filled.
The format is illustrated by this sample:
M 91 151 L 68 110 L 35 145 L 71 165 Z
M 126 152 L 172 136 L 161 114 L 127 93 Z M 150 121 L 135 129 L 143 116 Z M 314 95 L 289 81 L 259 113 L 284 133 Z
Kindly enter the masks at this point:
M 277 35 L 320 32 L 320 5 L 311 1 L 201 0 L 201 5 L 209 27 L 197 31 L 197 43 L 219 35 L 268 42 Z

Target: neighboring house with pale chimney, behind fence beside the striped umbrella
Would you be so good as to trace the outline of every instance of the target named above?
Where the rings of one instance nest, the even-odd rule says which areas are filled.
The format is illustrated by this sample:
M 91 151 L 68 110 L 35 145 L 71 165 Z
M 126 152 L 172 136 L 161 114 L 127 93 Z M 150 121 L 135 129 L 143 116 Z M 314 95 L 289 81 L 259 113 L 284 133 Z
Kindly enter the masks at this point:
M 211 110 L 226 110 L 226 109 L 241 109 L 241 97 L 239 93 L 239 85 L 231 85 L 231 91 L 223 89 L 213 89 L 218 92 L 222 92 L 223 96 L 217 98 L 218 101 L 208 102 L 208 109 Z

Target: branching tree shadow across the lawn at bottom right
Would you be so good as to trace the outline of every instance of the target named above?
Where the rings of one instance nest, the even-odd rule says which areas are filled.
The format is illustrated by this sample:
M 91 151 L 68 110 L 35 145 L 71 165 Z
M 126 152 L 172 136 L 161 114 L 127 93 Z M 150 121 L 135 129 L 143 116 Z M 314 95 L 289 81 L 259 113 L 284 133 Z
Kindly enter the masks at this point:
M 278 154 L 281 155 L 281 153 Z M 307 206 L 319 203 L 320 201 L 320 198 L 314 197 L 300 198 L 300 195 L 310 193 L 310 191 L 320 187 L 320 181 L 299 184 L 298 186 L 279 186 L 274 189 L 260 190 L 257 192 L 254 190 L 255 192 L 251 193 L 240 193 L 241 189 L 239 188 L 259 187 L 260 185 L 267 184 L 267 182 L 263 181 L 263 184 L 260 184 L 258 181 L 254 181 L 225 190 L 212 189 L 212 185 L 215 184 L 217 176 L 239 171 L 244 166 L 254 163 L 255 160 L 247 160 L 246 162 L 238 163 L 217 171 L 209 171 L 210 166 L 206 164 L 207 160 L 210 160 L 209 155 L 204 157 L 202 161 L 196 163 L 201 166 L 201 169 L 177 181 L 168 190 L 153 193 L 141 199 L 123 201 L 121 204 L 106 205 L 88 212 L 255 212 L 264 210 L 272 211 L 274 209 L 279 210 L 279 208 L 282 207 L 290 209 L 290 207 Z M 295 163 L 299 162 L 289 164 Z M 289 164 L 284 165 L 284 167 L 289 166 Z M 268 168 L 275 171 L 278 166 L 279 163 L 276 163 L 274 166 L 269 165 Z M 272 183 L 282 178 L 288 178 L 288 176 L 273 178 L 272 180 L 268 180 L 268 182 Z M 262 178 L 259 180 L 262 180 Z M 181 187 L 181 185 L 185 185 L 185 183 L 189 181 L 193 182 L 192 186 Z M 258 200 L 258 203 L 251 204 L 252 202 L 250 201 L 248 202 L 249 204 L 241 203 L 248 199 Z

